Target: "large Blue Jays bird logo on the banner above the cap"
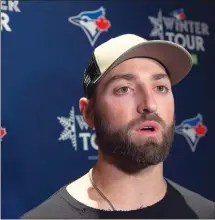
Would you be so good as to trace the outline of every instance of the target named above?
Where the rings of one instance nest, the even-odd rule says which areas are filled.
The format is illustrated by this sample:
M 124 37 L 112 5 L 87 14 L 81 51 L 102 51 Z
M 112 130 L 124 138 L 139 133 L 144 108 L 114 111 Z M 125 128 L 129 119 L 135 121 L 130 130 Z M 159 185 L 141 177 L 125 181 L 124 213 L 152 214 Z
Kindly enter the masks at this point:
M 69 22 L 79 26 L 84 31 L 91 46 L 94 46 L 99 35 L 111 26 L 110 21 L 105 18 L 103 7 L 94 11 L 83 11 L 77 16 L 70 17 Z

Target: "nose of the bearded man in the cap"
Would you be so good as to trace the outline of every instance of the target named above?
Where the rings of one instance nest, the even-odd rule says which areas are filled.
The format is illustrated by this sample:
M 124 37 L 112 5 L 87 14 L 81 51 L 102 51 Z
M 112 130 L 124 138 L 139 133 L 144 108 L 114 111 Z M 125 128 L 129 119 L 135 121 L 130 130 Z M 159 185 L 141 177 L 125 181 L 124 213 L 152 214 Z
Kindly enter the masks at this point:
M 152 91 L 143 91 L 137 107 L 138 113 L 155 113 L 157 112 L 157 102 Z

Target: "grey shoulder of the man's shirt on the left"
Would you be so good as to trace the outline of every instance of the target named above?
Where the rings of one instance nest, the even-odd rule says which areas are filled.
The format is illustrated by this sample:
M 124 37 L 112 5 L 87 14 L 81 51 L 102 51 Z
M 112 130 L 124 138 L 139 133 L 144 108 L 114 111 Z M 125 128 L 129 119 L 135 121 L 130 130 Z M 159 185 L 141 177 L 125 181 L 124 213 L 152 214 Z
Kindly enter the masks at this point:
M 63 196 L 65 192 L 66 186 L 56 191 L 40 205 L 22 215 L 20 219 L 71 218 L 71 214 L 76 215 L 77 212 L 75 211 L 75 206 L 73 207 Z M 76 216 L 74 217 L 76 218 Z

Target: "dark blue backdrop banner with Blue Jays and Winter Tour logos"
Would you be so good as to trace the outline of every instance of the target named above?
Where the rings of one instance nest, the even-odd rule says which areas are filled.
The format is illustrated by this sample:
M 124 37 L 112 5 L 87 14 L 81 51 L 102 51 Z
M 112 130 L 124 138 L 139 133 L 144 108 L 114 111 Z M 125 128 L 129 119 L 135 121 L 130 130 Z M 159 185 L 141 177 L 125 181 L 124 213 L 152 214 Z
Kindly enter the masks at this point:
M 78 108 L 82 76 L 93 49 L 125 33 L 192 54 L 191 73 L 173 88 L 165 176 L 215 201 L 215 4 L 197 2 L 1 0 L 2 218 L 18 218 L 95 164 L 95 133 Z

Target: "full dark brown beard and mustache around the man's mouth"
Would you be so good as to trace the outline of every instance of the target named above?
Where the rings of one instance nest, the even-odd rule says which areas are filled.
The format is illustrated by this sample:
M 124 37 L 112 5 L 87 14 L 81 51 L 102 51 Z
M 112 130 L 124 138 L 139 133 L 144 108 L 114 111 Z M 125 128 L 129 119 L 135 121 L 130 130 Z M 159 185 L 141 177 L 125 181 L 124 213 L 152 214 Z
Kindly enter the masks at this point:
M 155 121 L 161 125 L 162 140 L 154 137 L 147 138 L 141 143 L 135 143 L 131 139 L 131 131 L 141 122 Z M 96 144 L 99 146 L 104 158 L 126 173 L 136 173 L 149 166 L 163 162 L 171 149 L 175 131 L 175 116 L 172 124 L 166 123 L 152 113 L 142 114 L 141 117 L 132 120 L 125 127 L 113 129 L 94 110 L 94 123 L 96 131 Z

